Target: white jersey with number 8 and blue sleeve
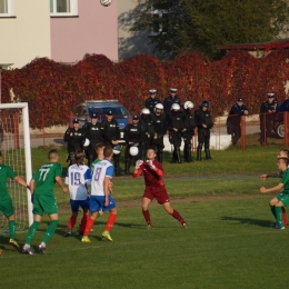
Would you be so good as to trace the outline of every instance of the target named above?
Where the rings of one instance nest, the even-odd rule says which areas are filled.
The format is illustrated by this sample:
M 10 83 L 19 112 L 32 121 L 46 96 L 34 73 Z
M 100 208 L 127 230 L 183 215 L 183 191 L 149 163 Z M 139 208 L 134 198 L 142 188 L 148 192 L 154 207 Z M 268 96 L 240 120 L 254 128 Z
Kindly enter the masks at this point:
M 96 163 L 91 178 L 91 196 L 104 196 L 104 178 L 111 179 L 113 171 L 113 165 L 107 159 Z

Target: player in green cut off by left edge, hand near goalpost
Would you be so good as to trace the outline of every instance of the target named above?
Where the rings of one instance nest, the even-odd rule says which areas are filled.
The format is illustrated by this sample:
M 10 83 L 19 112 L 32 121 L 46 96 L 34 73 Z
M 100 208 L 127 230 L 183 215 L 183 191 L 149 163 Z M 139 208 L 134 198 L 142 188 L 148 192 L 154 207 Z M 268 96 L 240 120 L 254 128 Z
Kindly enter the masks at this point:
M 17 181 L 19 185 L 24 188 L 29 188 L 27 182 L 8 166 L 3 165 L 2 153 L 0 151 L 0 211 L 6 216 L 9 223 L 9 243 L 13 246 L 14 249 L 19 250 L 20 246 L 14 240 L 16 238 L 16 215 L 12 205 L 12 199 L 7 189 L 7 178 Z

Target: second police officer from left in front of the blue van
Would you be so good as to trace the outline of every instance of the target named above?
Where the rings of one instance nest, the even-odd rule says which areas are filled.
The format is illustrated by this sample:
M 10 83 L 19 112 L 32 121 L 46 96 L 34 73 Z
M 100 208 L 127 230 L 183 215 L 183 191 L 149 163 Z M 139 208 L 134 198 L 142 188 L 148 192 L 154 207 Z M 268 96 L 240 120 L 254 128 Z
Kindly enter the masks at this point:
M 101 133 L 101 124 L 98 122 L 97 113 L 90 116 L 91 122 L 84 123 L 82 127 L 83 134 L 89 139 L 89 146 L 87 148 L 88 153 L 88 167 L 97 159 L 96 146 L 98 142 L 103 142 L 103 137 Z

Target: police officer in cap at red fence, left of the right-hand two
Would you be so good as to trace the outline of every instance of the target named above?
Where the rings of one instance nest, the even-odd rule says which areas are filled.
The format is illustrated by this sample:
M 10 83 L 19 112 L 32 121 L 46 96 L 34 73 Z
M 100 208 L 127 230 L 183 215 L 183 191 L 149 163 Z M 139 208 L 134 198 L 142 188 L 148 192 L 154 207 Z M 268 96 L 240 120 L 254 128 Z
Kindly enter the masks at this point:
M 243 104 L 243 99 L 238 98 L 237 103 L 231 107 L 227 118 L 227 132 L 232 134 L 232 144 L 236 144 L 241 137 L 241 116 L 249 113 L 247 107 Z

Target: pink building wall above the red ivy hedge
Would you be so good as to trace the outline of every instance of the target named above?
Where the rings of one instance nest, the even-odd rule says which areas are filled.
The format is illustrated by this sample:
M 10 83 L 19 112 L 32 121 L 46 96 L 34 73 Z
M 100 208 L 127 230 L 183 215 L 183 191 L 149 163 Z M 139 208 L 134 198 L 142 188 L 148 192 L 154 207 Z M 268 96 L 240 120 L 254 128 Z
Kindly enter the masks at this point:
M 78 16 L 51 18 L 51 58 L 77 62 L 86 53 L 118 60 L 117 1 L 102 7 L 99 0 L 79 0 Z

